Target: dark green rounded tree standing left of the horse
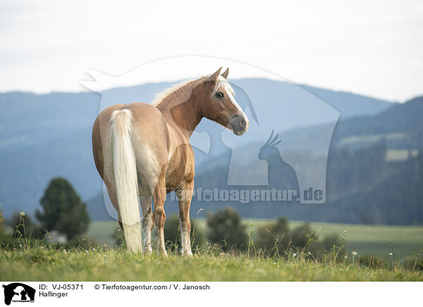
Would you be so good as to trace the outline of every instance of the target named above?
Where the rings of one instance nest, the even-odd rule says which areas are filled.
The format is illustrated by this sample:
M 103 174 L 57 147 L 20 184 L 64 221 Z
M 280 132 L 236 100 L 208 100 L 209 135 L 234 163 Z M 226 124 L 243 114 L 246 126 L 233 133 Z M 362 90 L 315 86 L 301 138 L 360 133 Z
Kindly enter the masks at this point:
M 75 239 L 87 230 L 90 217 L 85 203 L 68 180 L 56 177 L 51 180 L 40 201 L 42 211 L 35 216 L 47 231 L 59 230 Z

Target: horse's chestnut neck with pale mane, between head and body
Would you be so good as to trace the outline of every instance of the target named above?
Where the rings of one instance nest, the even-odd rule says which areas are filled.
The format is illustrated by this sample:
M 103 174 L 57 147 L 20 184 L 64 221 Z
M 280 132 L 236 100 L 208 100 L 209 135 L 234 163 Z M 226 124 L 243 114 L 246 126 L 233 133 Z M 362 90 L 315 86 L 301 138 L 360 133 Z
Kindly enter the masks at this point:
M 161 99 L 157 108 L 169 124 L 190 137 L 200 123 L 202 115 L 199 108 L 200 101 L 192 94 L 192 86 L 188 85 Z

